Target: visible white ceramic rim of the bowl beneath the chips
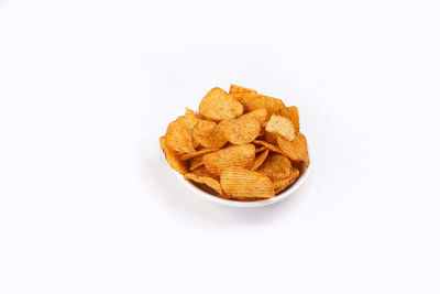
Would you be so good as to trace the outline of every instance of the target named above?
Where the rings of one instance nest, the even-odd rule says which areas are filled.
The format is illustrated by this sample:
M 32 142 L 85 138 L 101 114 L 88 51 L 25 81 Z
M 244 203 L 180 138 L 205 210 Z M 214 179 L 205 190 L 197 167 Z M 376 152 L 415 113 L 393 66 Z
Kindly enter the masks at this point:
M 205 199 L 211 200 L 213 203 L 227 205 L 227 206 L 234 206 L 234 207 L 261 207 L 261 206 L 266 206 L 266 205 L 271 205 L 271 204 L 276 204 L 276 203 L 279 203 L 279 202 L 290 197 L 306 182 L 306 179 L 309 175 L 309 172 L 310 172 L 310 166 L 311 166 L 311 164 L 308 167 L 304 167 L 298 179 L 290 187 L 288 187 L 287 189 L 285 189 L 284 192 L 276 195 L 273 198 L 268 198 L 265 200 L 257 200 L 257 202 L 238 202 L 238 200 L 229 200 L 229 199 L 217 197 L 215 195 L 211 195 L 211 194 L 196 187 L 189 181 L 185 179 L 184 176 L 180 175 L 179 173 L 177 173 L 177 172 L 174 172 L 174 173 L 180 179 L 180 182 L 184 183 L 184 185 L 188 189 L 190 189 L 193 193 L 201 196 Z

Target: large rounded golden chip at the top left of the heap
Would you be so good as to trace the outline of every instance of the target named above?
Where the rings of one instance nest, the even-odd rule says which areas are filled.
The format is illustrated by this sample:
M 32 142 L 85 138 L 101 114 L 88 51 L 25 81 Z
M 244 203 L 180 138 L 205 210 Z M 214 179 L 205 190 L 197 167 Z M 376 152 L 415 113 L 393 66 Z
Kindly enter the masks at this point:
M 227 91 L 213 88 L 201 99 L 199 112 L 212 120 L 228 120 L 243 115 L 243 106 Z

